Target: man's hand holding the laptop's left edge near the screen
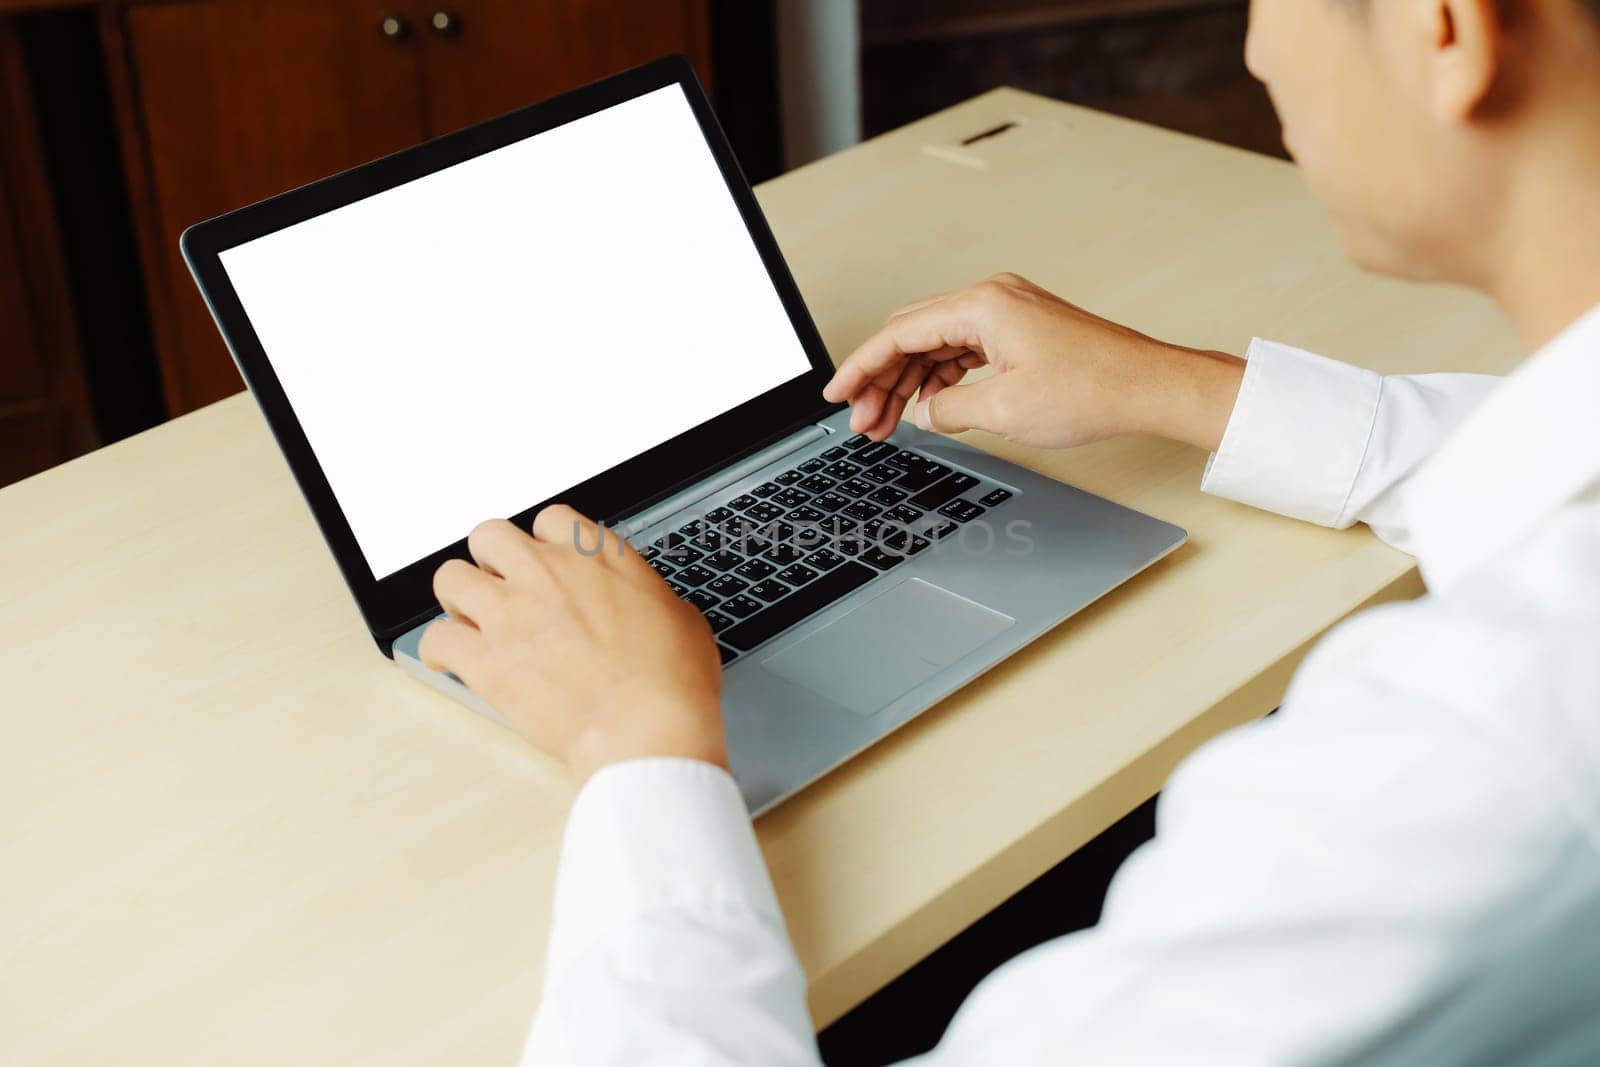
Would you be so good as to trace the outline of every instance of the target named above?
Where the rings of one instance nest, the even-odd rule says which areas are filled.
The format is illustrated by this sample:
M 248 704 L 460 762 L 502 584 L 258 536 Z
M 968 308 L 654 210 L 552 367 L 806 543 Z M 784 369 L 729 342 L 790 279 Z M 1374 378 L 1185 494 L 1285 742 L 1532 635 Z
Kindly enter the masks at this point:
M 422 635 L 424 664 L 466 681 L 579 784 L 651 755 L 728 766 L 710 627 L 614 533 L 555 506 L 531 537 L 491 520 L 467 549 L 477 566 L 450 560 L 434 576 L 450 617 Z

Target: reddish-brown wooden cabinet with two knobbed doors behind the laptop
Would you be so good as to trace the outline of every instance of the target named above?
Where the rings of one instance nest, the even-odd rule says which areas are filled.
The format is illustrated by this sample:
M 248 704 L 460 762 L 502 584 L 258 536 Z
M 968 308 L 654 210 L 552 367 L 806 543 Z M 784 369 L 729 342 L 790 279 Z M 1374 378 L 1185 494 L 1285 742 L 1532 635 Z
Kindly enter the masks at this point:
M 173 414 L 240 389 L 184 227 L 667 51 L 707 69 L 706 0 L 152 0 L 104 29 Z

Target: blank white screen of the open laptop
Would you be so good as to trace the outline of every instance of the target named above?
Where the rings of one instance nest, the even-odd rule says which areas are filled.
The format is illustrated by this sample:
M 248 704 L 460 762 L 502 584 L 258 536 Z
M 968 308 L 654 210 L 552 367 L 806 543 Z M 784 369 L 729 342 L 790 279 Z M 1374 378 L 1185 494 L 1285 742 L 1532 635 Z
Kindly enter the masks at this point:
M 221 259 L 374 577 L 810 370 L 675 85 Z

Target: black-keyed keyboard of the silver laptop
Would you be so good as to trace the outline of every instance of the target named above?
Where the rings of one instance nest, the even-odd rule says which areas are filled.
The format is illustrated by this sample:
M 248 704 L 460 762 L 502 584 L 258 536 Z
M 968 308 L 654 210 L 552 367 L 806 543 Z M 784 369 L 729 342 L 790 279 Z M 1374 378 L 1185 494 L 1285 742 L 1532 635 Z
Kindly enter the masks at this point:
M 1010 490 L 858 434 L 640 552 L 706 614 L 728 664 L 1008 499 Z

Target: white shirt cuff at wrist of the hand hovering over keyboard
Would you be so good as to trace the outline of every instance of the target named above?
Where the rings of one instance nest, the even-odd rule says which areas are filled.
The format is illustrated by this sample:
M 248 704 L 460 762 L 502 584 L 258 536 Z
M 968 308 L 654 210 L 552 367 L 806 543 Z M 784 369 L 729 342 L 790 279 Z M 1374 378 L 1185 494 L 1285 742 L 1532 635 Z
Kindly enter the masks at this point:
M 1347 526 L 1382 376 L 1256 338 L 1227 430 L 1200 490 L 1240 504 Z

